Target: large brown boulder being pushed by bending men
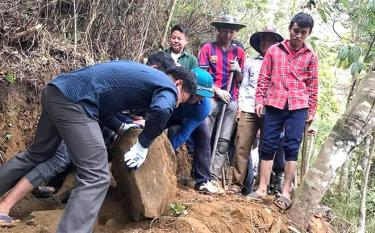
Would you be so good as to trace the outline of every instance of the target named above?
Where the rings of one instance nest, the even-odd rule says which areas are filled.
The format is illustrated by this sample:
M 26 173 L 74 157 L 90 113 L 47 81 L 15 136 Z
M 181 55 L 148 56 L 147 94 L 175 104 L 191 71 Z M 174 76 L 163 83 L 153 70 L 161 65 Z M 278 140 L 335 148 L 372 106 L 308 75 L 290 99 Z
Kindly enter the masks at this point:
M 129 130 L 110 152 L 121 206 L 134 221 L 161 216 L 177 193 L 176 155 L 164 134 L 149 147 L 141 167 L 137 170 L 125 167 L 124 154 L 135 144 L 140 132 Z

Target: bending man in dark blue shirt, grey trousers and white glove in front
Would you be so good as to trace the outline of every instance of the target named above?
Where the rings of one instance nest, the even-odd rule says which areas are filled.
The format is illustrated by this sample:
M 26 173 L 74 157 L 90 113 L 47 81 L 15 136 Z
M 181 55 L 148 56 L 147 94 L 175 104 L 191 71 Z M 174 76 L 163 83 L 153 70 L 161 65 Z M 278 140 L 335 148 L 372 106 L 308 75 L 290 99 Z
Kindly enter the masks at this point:
M 173 67 L 163 73 L 131 61 L 96 64 L 57 76 L 43 90 L 34 142 L 0 169 L 0 195 L 52 157 L 64 140 L 77 175 L 57 232 L 92 232 L 110 183 L 99 123 L 124 110 L 147 110 L 142 133 L 124 155 L 127 166 L 139 167 L 174 108 L 195 91 L 190 71 Z

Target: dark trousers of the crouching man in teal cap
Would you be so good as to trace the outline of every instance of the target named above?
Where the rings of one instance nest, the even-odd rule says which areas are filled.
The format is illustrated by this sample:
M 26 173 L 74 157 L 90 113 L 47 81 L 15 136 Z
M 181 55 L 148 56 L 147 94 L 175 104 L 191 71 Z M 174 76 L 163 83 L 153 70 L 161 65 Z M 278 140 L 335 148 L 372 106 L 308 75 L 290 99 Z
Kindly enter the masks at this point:
M 174 125 L 174 129 L 168 130 L 168 137 L 172 138 L 173 134 L 177 131 L 179 125 Z M 210 144 L 210 132 L 206 121 L 203 121 L 190 136 L 191 142 L 194 147 L 193 154 L 193 170 L 194 180 L 196 186 L 199 186 L 202 182 L 210 181 L 211 173 L 211 144 Z

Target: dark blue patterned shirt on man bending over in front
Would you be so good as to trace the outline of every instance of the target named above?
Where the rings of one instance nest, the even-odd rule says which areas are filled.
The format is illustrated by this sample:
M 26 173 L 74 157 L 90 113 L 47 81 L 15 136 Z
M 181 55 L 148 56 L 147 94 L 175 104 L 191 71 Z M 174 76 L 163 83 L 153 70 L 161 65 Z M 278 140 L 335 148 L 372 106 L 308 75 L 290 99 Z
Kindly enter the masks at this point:
M 177 101 L 177 88 L 166 74 L 131 61 L 88 66 L 61 74 L 50 84 L 101 122 L 124 110 L 147 111 L 148 119 L 138 138 L 144 147 L 163 132 Z

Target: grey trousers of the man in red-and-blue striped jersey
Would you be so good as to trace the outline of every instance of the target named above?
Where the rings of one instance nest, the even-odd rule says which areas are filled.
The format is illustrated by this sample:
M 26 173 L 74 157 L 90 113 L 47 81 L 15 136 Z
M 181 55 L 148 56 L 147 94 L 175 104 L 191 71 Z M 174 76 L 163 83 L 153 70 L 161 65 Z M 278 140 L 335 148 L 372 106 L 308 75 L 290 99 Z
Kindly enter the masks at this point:
M 215 124 L 219 122 L 219 117 L 224 103 L 211 98 L 211 112 L 207 117 L 207 125 L 212 139 L 215 138 L 217 132 L 213 132 Z M 214 178 L 218 179 L 221 176 L 221 170 L 227 158 L 230 138 L 233 133 L 234 123 L 237 112 L 237 101 L 231 101 L 227 104 L 224 113 L 224 119 L 219 132 L 219 141 L 215 153 L 215 157 L 211 164 L 211 174 Z M 216 126 L 217 127 L 217 126 Z

